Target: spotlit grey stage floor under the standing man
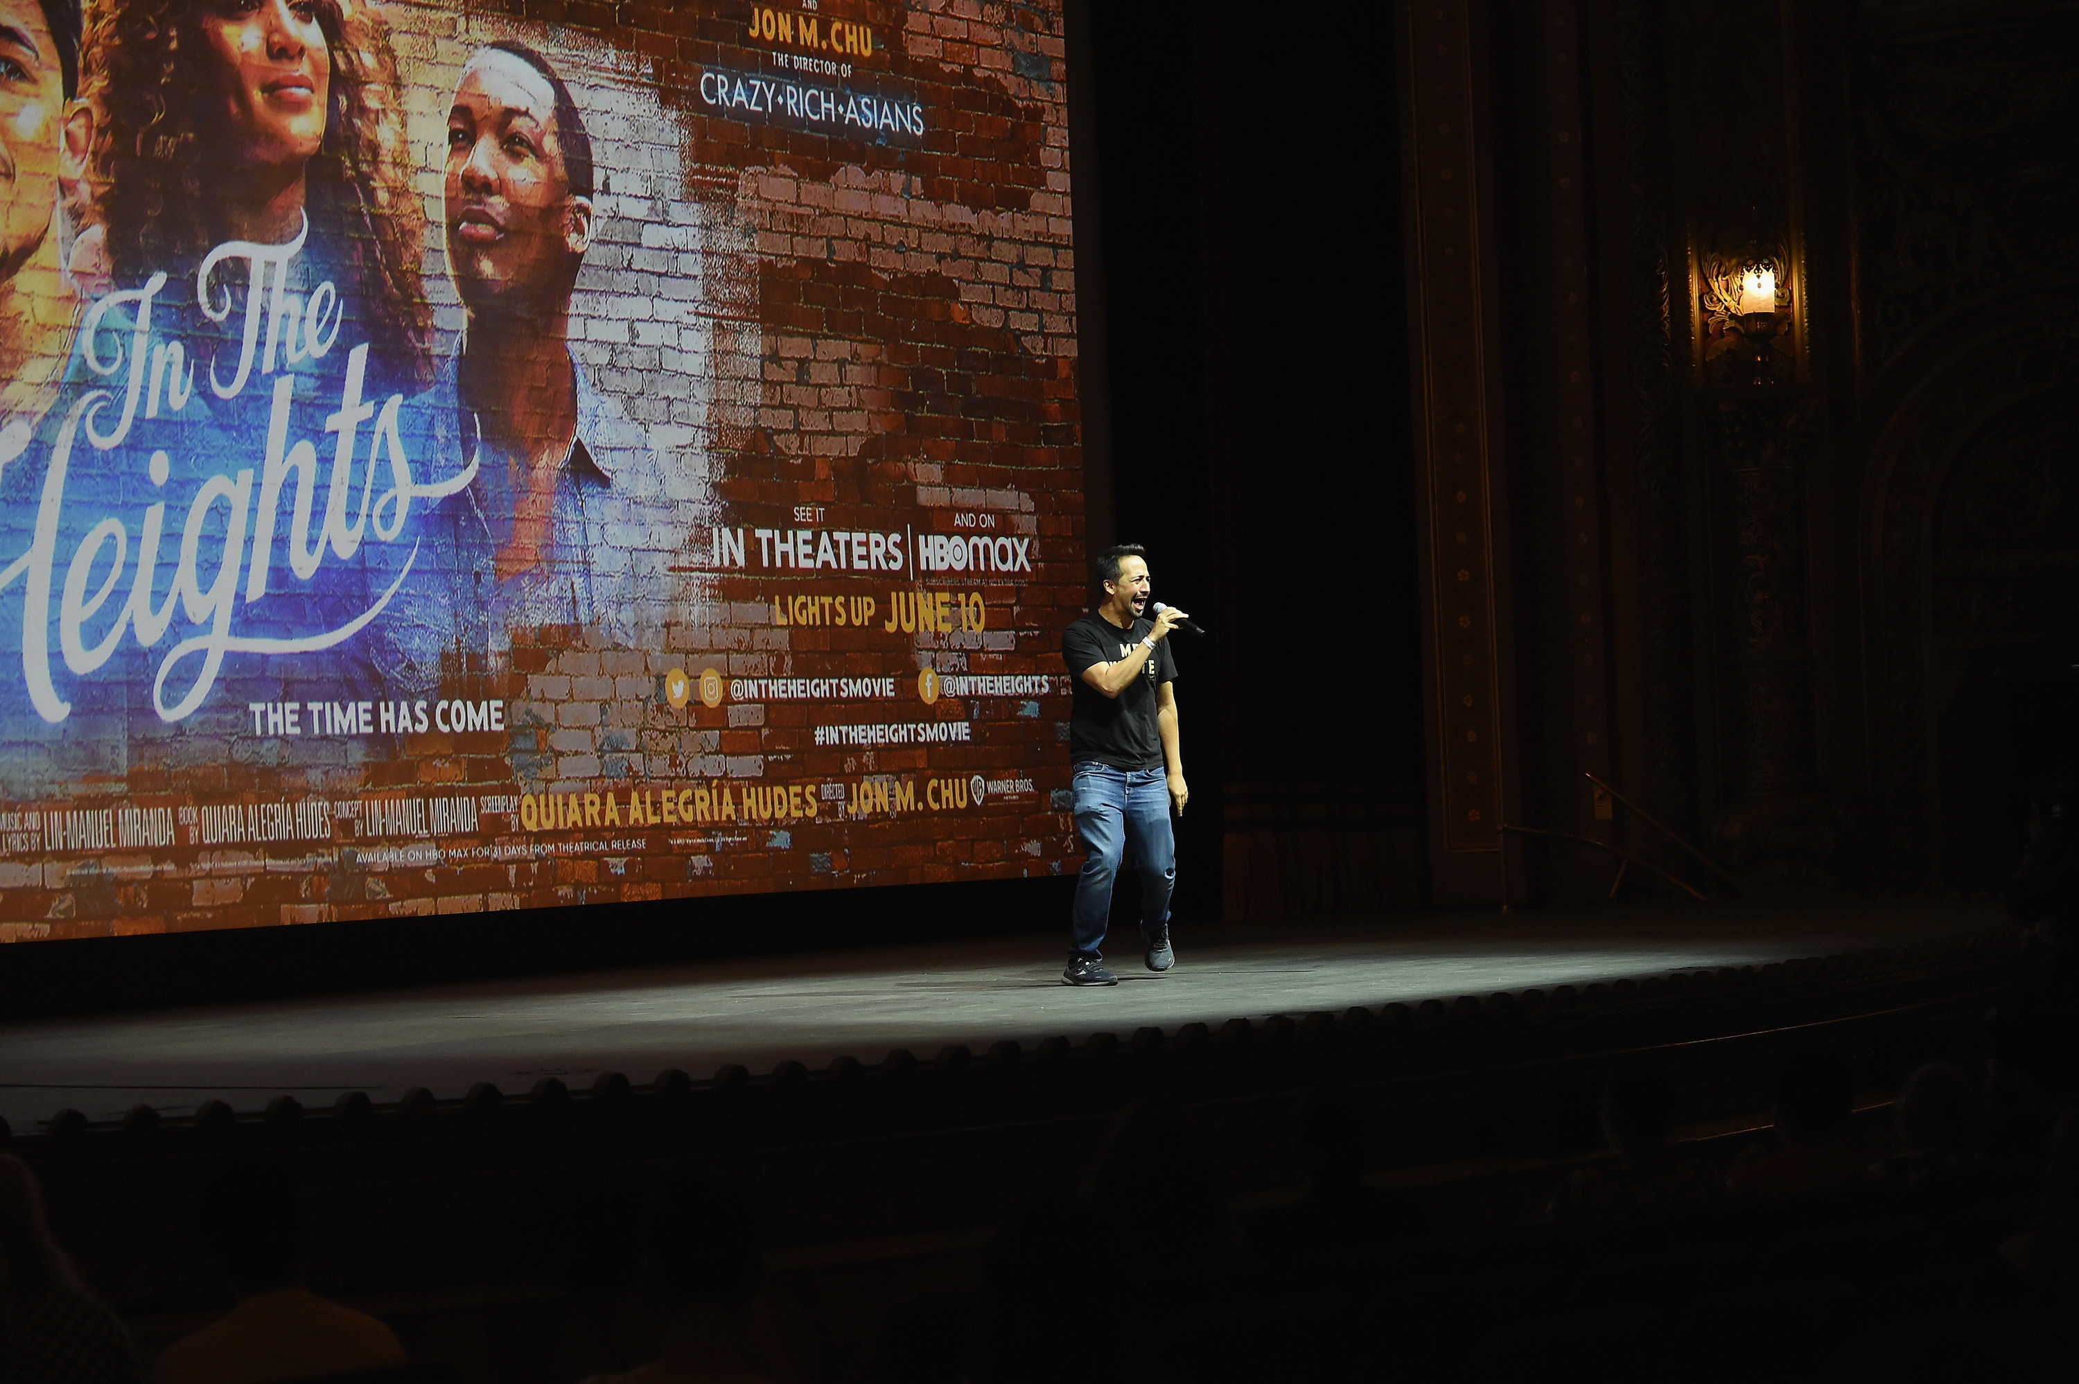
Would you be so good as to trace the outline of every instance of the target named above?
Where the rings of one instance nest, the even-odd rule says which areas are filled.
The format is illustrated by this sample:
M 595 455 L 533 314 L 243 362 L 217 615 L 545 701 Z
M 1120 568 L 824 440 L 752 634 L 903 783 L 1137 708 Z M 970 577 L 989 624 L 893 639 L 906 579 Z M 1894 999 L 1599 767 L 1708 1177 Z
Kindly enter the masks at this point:
M 518 1095 L 541 1076 L 582 1089 L 599 1072 L 647 1083 L 674 1066 L 705 1079 L 728 1062 L 767 1072 L 786 1058 L 879 1062 L 892 1047 L 979 1054 L 998 1039 L 1127 1037 L 1830 956 L 2002 916 L 1998 904 L 1437 914 L 1208 943 L 1179 931 L 1177 968 L 1160 977 L 1141 968 L 1137 937 L 1114 937 L 1114 989 L 1060 985 L 1062 939 L 1046 935 L 40 1018 L 0 1024 L 0 1116 L 29 1133 L 64 1108 L 112 1120 L 137 1101 L 181 1116 L 210 1097 L 245 1112 L 281 1093 L 328 1106 L 366 1091 L 380 1103 L 410 1087 L 459 1097 L 478 1081 Z

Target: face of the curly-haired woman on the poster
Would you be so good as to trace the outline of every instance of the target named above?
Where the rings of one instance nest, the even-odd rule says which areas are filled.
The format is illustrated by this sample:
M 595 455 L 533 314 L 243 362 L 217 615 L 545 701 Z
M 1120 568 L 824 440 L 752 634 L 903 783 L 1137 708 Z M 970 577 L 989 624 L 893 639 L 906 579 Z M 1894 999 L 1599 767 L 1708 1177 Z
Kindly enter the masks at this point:
M 202 31 L 239 160 L 270 166 L 312 158 L 324 143 L 333 81 L 316 0 L 210 0 Z

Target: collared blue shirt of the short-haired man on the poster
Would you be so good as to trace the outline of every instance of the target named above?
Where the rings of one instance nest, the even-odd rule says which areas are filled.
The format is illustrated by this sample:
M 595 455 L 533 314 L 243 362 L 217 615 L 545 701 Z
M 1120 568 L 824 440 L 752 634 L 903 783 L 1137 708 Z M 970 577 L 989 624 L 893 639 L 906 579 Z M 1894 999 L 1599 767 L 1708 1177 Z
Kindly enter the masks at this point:
M 570 362 L 578 428 L 555 484 L 543 561 L 497 576 L 526 480 L 526 457 L 486 438 L 459 395 L 459 355 L 414 405 L 432 474 L 476 463 L 474 480 L 416 526 L 414 571 L 383 619 L 393 694 L 439 686 L 443 669 L 482 667 L 511 648 L 514 630 L 580 626 L 615 646 L 663 630 L 669 563 L 686 526 L 665 495 L 649 436 Z M 395 557 L 395 553 L 393 553 Z M 445 663 L 443 663 L 445 661 Z

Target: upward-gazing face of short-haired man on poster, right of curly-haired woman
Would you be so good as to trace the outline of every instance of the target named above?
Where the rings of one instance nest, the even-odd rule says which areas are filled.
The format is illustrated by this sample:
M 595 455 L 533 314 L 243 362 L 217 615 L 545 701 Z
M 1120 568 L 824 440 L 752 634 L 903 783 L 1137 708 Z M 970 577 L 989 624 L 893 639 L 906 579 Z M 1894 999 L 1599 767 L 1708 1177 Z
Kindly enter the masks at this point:
M 447 258 L 470 308 L 570 287 L 588 210 L 570 195 L 555 89 L 522 58 L 478 52 L 447 114 Z

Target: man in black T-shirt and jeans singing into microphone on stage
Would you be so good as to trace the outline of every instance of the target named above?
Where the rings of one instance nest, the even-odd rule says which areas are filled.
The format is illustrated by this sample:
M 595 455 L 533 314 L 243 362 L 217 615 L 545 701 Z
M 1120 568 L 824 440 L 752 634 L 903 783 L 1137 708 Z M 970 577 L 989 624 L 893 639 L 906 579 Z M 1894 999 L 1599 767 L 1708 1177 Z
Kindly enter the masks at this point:
M 1069 746 L 1075 761 L 1075 831 L 1083 873 L 1075 883 L 1075 943 L 1064 985 L 1119 985 L 1098 948 L 1112 912 L 1112 881 L 1125 848 L 1141 875 L 1141 937 L 1148 968 L 1177 962 L 1168 939 L 1168 900 L 1177 883 L 1170 810 L 1183 815 L 1191 792 L 1177 748 L 1177 661 L 1168 634 L 1183 611 L 1148 607 L 1148 551 L 1121 544 L 1098 555 L 1104 605 L 1060 636 L 1060 657 L 1075 673 Z

